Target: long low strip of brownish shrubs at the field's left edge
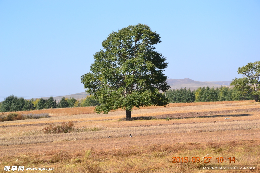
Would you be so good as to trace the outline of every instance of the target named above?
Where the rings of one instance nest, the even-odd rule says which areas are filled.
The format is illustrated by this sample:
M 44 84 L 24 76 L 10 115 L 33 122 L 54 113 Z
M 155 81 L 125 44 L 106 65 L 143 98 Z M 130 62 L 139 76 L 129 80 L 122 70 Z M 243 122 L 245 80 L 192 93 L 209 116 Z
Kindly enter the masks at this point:
M 15 120 L 26 120 L 26 119 L 37 119 L 37 118 L 48 118 L 49 114 L 28 114 L 21 115 L 16 113 L 10 113 L 8 115 L 1 115 L 0 121 L 15 121 Z

